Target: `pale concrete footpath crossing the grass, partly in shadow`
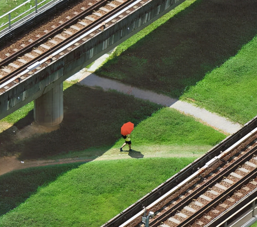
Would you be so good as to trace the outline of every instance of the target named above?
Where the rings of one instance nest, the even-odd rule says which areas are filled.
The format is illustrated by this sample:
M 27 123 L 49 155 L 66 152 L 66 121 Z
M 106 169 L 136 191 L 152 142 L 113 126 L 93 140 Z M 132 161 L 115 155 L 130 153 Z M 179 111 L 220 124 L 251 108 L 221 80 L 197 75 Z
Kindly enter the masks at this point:
M 108 54 L 103 55 L 97 59 L 89 69 L 83 69 L 70 77 L 68 80 L 77 80 L 80 84 L 89 87 L 102 87 L 104 90 L 117 90 L 119 92 L 134 95 L 137 98 L 149 100 L 154 103 L 166 105 L 168 107 L 190 114 L 195 118 L 201 119 L 201 121 L 208 125 L 220 129 L 223 132 L 233 134 L 243 127 L 238 123 L 233 123 L 224 117 L 218 116 L 215 113 L 211 113 L 203 108 L 193 106 L 190 103 L 179 101 L 178 99 L 172 99 L 162 94 L 156 94 L 152 91 L 141 90 L 131 85 L 118 82 L 114 79 L 103 78 L 95 75 L 93 72 L 102 64 L 102 62 L 108 57 Z

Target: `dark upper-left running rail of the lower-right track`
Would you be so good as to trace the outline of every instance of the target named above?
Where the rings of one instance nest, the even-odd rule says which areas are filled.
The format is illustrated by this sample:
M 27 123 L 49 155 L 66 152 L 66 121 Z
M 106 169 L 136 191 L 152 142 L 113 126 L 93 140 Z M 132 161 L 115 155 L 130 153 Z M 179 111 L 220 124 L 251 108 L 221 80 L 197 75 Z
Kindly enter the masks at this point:
M 212 177 L 209 181 L 207 181 L 205 184 L 201 185 L 197 192 L 193 195 L 190 195 L 189 197 L 186 197 L 179 201 L 178 204 L 175 204 L 170 209 L 162 213 L 160 216 L 158 216 L 156 219 L 154 219 L 152 222 L 149 223 L 150 227 L 157 227 L 161 224 L 161 222 L 166 221 L 169 217 L 176 214 L 177 210 L 182 210 L 185 206 L 190 204 L 193 199 L 198 198 L 201 194 L 205 193 L 208 188 L 214 186 L 217 182 L 221 181 L 224 176 L 227 176 L 228 173 L 233 172 L 235 169 L 238 168 L 239 165 L 244 164 L 247 160 L 250 160 L 254 154 L 257 154 L 257 146 L 252 148 L 250 151 L 245 153 L 242 157 L 234 161 L 228 168 L 223 170 L 220 174 L 215 175 Z M 215 199 L 216 200 L 216 199 Z M 201 209 L 199 209 L 201 210 Z M 193 215 L 192 215 L 193 216 Z M 192 217 L 190 216 L 190 217 Z

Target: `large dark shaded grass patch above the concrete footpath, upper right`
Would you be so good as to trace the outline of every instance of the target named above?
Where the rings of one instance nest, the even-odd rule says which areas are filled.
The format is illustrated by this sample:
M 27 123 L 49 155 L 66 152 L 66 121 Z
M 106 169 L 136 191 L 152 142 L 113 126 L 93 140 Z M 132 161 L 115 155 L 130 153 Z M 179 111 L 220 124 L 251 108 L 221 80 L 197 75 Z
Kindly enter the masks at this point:
M 178 98 L 256 35 L 256 14 L 253 0 L 195 1 L 137 43 L 127 40 L 96 74 Z

